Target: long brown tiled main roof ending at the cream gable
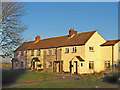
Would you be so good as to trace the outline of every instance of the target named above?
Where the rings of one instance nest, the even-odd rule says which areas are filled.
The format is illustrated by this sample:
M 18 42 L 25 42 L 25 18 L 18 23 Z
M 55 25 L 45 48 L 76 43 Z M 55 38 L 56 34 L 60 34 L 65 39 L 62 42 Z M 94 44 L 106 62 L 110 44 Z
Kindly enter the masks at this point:
M 30 45 L 27 49 L 39 49 L 39 48 L 52 48 L 52 47 L 61 47 L 61 46 L 71 46 L 71 45 L 85 45 L 89 38 L 96 31 L 79 33 L 73 36 L 72 38 L 67 36 L 61 36 L 56 38 L 48 38 L 39 40 L 37 43 Z

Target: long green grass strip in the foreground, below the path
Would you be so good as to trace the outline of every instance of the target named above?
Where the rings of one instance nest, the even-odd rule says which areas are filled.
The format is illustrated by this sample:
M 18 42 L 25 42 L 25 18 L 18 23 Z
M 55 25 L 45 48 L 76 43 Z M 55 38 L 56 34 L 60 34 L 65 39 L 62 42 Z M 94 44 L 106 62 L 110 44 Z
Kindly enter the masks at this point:
M 53 81 L 43 82 L 36 85 L 23 85 L 14 88 L 92 88 L 101 84 L 101 80 L 71 80 L 71 81 Z

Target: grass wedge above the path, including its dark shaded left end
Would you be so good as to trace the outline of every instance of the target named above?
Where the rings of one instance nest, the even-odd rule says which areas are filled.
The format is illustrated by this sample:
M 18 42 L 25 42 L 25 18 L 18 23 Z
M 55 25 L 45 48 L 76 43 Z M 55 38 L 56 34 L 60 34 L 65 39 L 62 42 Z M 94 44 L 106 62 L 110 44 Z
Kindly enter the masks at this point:
M 57 78 L 55 75 L 46 73 L 30 72 L 24 69 L 18 70 L 2 70 L 2 83 L 3 85 L 14 83 L 14 82 L 27 82 L 27 81 L 38 81 L 45 79 Z

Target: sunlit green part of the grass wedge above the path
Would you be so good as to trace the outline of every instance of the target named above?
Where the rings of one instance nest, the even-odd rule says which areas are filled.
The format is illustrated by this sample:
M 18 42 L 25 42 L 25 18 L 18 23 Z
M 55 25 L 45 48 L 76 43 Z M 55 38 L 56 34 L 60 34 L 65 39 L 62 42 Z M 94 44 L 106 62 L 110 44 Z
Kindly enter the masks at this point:
M 17 82 L 25 82 L 25 81 L 33 82 L 33 81 L 53 79 L 53 78 L 57 78 L 57 76 L 46 73 L 25 72 L 25 74 L 19 76 Z

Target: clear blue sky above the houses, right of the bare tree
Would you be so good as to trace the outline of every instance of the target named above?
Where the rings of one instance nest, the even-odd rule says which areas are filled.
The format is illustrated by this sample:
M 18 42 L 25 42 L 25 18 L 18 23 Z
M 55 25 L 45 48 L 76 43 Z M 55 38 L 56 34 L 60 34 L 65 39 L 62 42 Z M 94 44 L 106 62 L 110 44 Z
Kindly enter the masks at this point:
M 70 28 L 81 32 L 98 30 L 105 39 L 118 39 L 117 2 L 27 2 L 23 23 L 25 40 L 67 35 Z

